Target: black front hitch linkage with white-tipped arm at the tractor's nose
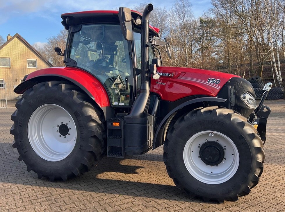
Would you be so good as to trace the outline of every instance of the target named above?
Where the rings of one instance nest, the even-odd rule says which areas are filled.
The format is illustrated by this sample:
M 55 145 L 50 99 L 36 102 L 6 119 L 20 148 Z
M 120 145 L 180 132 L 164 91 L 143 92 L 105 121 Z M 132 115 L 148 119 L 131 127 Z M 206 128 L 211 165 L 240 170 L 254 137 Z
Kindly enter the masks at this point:
M 271 112 L 270 107 L 265 106 L 263 103 L 266 100 L 266 97 L 272 87 L 272 83 L 268 82 L 264 85 L 263 90 L 264 93 L 262 94 L 260 103 L 258 107 L 254 110 L 254 112 L 250 115 L 249 121 L 254 123 L 254 127 L 257 129 L 261 140 L 263 141 L 263 145 L 266 141 L 266 124 L 267 118 Z

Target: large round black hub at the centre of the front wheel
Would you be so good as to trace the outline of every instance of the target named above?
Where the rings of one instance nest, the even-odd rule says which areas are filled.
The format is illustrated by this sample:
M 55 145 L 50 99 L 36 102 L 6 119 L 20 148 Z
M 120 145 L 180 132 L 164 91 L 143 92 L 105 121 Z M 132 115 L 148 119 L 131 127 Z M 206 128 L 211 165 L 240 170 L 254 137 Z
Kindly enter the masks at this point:
M 224 157 L 225 151 L 222 145 L 215 141 L 207 141 L 200 148 L 201 160 L 210 166 L 216 166 L 220 164 Z

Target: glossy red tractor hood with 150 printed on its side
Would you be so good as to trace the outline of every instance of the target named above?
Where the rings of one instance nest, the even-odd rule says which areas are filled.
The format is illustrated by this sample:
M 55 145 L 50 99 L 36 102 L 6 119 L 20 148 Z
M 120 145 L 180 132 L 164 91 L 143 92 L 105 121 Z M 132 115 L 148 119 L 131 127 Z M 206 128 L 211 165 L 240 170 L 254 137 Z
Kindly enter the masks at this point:
M 194 95 L 215 97 L 228 80 L 238 77 L 217 71 L 179 67 L 159 67 L 157 72 L 161 77 L 151 80 L 150 89 L 162 100 L 171 102 Z

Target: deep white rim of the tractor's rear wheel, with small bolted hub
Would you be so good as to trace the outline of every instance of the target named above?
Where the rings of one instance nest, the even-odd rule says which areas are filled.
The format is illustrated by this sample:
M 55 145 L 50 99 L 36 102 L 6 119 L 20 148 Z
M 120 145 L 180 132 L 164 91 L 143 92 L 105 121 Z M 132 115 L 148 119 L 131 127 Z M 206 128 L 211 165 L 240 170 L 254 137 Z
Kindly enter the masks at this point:
M 47 161 L 65 159 L 74 149 L 76 133 L 71 115 L 54 104 L 38 107 L 28 124 L 28 137 L 33 150 Z

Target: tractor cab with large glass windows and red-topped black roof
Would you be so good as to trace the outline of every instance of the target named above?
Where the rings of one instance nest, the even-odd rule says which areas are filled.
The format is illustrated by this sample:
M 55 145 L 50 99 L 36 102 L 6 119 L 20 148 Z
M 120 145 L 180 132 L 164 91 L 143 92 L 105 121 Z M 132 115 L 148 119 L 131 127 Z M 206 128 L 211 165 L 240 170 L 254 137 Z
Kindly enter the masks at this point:
M 69 29 L 65 64 L 95 76 L 104 85 L 114 108 L 130 108 L 141 85 L 142 17 L 126 9 L 61 16 L 62 24 Z M 152 39 L 159 30 L 151 27 L 150 31 Z M 149 64 L 152 59 L 154 51 L 149 48 Z

